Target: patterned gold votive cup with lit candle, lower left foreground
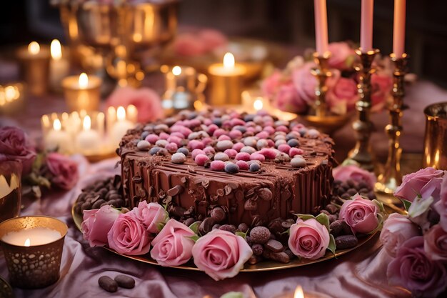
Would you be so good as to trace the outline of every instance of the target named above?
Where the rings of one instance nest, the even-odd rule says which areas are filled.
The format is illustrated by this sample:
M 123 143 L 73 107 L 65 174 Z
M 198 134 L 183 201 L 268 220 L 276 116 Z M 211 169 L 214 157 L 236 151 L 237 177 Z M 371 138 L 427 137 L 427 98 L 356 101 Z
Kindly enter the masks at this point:
M 13 287 L 37 289 L 60 277 L 68 227 L 53 217 L 29 216 L 0 224 L 0 244 Z

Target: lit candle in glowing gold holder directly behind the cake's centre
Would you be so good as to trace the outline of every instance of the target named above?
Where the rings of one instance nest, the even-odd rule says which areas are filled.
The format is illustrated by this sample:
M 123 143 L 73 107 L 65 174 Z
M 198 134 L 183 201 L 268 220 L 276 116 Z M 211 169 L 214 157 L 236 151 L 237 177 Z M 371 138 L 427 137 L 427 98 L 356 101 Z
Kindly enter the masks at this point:
M 223 63 L 211 64 L 208 72 L 211 76 L 210 104 L 241 104 L 241 85 L 246 69 L 236 64 L 233 54 L 226 53 Z

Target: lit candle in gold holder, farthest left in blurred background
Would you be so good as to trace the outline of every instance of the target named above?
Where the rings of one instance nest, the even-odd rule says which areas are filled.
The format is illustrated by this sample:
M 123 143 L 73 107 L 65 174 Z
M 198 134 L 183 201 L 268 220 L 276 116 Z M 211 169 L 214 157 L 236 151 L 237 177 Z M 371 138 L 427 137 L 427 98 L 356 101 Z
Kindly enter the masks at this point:
M 28 85 L 29 92 L 36 96 L 46 94 L 48 87 L 50 51 L 48 46 L 41 46 L 36 41 L 19 49 L 21 76 Z

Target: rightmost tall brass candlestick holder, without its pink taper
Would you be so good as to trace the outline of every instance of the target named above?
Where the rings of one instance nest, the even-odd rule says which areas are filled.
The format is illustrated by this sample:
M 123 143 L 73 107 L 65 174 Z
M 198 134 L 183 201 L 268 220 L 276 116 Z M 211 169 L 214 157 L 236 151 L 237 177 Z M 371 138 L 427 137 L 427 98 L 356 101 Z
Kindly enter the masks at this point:
M 390 112 L 391 123 L 385 127 L 388 134 L 388 159 L 386 160 L 385 169 L 378 176 L 376 190 L 386 194 L 393 194 L 396 188 L 402 183 L 401 174 L 401 153 L 402 149 L 399 144 L 399 138 L 402 133 L 402 113 L 403 113 L 403 96 L 405 96 L 404 77 L 408 64 L 408 55 L 403 54 L 397 57 L 391 54 L 391 61 L 394 63 L 393 71 L 393 102 L 388 106 Z

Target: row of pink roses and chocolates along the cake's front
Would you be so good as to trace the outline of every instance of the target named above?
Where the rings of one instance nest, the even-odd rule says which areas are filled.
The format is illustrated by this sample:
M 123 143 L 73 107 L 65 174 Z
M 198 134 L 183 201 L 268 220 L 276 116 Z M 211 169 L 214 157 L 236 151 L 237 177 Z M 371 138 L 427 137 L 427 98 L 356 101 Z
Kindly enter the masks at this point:
M 341 202 L 341 206 L 328 205 L 316 216 L 296 214 L 296 221 L 289 219 L 293 223 L 288 222 L 280 234 L 271 232 L 273 227 L 248 229 L 246 224 L 237 229 L 216 224 L 204 232 L 200 221 L 187 225 L 170 218 L 161 204 L 145 201 L 132 210 L 109 204 L 84 210 L 81 229 L 91 247 L 107 245 L 119 254 L 150 254 L 165 267 L 193 259 L 197 268 L 220 280 L 236 276 L 246 262 L 320 259 L 326 252 L 355 247 L 358 237 L 381 229 L 383 206 L 376 200 L 355 194 Z

